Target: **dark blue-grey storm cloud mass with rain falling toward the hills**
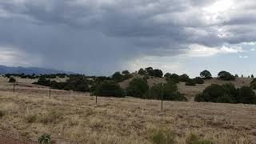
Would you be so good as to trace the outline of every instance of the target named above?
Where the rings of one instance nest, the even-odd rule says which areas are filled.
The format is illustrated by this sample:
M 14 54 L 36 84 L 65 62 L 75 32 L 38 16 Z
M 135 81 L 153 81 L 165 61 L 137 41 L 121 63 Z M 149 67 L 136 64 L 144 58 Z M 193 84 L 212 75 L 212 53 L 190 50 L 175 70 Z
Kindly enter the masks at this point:
M 191 44 L 222 46 L 226 42 L 256 41 L 252 18 L 256 2 L 235 1 L 239 11 L 220 11 L 216 18 L 205 10 L 215 2 L 2 1 L 0 46 L 38 55 L 42 66 L 110 74 L 141 54 L 174 56 Z

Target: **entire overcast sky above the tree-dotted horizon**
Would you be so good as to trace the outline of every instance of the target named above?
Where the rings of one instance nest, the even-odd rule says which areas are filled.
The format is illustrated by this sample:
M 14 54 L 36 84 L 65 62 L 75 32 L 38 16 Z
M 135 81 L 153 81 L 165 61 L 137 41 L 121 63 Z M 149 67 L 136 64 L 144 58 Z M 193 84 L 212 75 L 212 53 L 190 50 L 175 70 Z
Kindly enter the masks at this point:
M 256 1 L 0 0 L 0 64 L 256 75 Z

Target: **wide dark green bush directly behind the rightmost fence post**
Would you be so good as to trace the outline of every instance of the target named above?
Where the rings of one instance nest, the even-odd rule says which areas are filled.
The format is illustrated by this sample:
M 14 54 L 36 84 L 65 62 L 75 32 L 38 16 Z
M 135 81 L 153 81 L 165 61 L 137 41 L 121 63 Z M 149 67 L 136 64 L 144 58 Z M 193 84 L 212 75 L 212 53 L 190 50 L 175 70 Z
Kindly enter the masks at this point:
M 178 92 L 178 86 L 174 82 L 164 85 L 157 84 L 151 87 L 148 98 L 164 101 L 186 101 L 187 99 Z

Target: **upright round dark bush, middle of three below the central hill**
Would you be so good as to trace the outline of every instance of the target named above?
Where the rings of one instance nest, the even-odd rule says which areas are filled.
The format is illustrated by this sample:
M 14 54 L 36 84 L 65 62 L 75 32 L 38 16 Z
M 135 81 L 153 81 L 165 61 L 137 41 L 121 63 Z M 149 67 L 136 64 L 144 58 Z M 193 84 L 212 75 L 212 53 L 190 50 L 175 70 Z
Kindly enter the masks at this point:
M 127 88 L 127 94 L 135 98 L 143 98 L 146 92 L 149 90 L 149 86 L 143 78 L 134 78 Z

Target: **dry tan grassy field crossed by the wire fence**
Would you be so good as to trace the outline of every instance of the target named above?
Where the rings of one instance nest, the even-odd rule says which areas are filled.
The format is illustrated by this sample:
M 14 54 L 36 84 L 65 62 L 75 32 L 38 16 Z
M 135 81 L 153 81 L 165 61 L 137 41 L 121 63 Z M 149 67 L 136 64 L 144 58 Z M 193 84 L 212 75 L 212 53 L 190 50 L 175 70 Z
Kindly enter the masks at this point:
M 50 134 L 56 143 L 154 143 L 155 134 L 165 131 L 177 143 L 186 143 L 190 134 L 214 143 L 256 142 L 254 105 L 164 102 L 163 108 L 159 101 L 136 98 L 98 98 L 96 105 L 90 94 L 64 90 L 52 90 L 49 98 L 47 87 L 27 81 L 18 81 L 13 94 L 1 78 L 0 138 L 34 143 Z

